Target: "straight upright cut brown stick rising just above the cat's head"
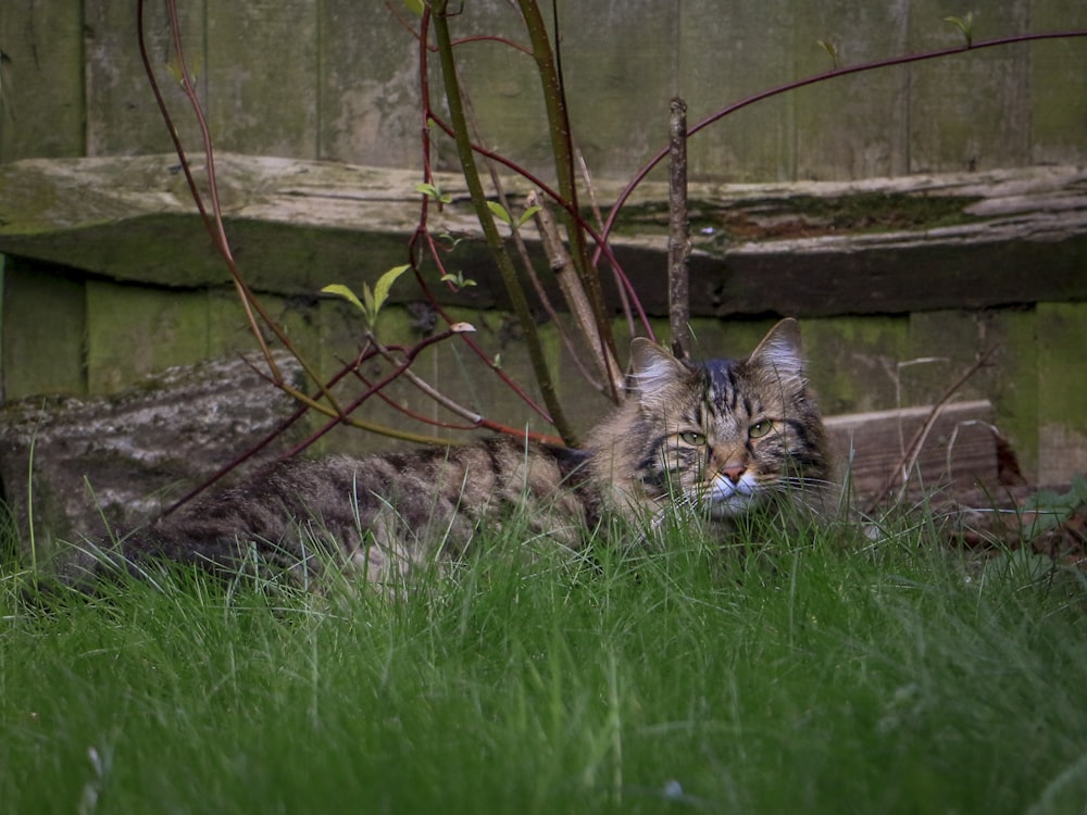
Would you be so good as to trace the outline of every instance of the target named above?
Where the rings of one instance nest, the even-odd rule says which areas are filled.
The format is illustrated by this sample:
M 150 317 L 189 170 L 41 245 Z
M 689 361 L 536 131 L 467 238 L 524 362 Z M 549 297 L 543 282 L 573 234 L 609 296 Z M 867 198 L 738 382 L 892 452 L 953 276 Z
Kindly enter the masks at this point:
M 690 224 L 687 216 L 687 103 L 675 97 L 669 118 L 669 327 L 672 353 L 690 359 Z

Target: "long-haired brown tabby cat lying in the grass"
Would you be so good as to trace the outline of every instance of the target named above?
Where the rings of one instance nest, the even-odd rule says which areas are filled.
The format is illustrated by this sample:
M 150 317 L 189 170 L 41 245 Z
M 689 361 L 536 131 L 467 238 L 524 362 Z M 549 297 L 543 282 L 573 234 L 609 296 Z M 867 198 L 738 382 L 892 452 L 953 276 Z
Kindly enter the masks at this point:
M 297 573 L 316 570 L 324 548 L 385 582 L 463 555 L 511 518 L 521 539 L 577 549 L 609 517 L 651 529 L 678 509 L 728 525 L 783 500 L 822 501 L 825 437 L 796 321 L 740 360 L 689 365 L 645 339 L 630 354 L 630 393 L 584 450 L 503 437 L 285 461 L 129 536 L 124 555 L 234 570 L 255 552 Z

